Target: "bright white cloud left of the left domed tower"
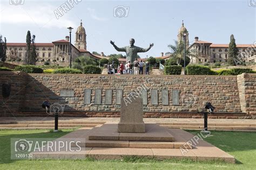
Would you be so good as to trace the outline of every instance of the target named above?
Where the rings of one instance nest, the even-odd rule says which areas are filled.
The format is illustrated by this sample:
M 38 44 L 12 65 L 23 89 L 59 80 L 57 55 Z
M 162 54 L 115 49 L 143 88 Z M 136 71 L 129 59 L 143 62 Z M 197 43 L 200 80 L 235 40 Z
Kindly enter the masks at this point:
M 57 7 L 58 8 L 58 7 Z M 38 27 L 69 27 L 77 24 L 73 23 L 68 18 L 68 13 L 57 19 L 54 11 L 57 10 L 55 6 L 49 4 L 41 4 L 39 1 L 37 5 L 9 5 L 1 4 L 0 10 L 0 24 L 35 24 Z M 72 10 L 72 9 L 71 9 Z

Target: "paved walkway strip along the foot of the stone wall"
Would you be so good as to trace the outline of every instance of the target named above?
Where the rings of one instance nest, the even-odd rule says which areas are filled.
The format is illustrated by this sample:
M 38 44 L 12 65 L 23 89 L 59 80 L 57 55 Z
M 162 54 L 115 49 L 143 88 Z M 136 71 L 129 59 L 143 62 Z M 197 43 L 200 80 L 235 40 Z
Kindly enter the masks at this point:
M 59 117 L 59 121 L 119 122 L 120 118 Z M 146 123 L 204 123 L 203 118 L 144 118 Z M 54 117 L 0 117 L 0 121 L 54 121 Z M 256 119 L 208 119 L 208 123 L 255 124 Z

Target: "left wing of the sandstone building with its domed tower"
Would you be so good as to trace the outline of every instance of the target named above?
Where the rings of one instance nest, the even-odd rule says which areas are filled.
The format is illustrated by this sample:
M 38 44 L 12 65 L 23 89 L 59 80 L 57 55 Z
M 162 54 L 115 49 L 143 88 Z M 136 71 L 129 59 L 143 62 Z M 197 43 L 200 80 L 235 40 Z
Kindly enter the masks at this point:
M 42 65 L 45 61 L 54 62 L 60 66 L 68 66 L 70 63 L 70 42 L 69 36 L 65 39 L 53 41 L 51 43 L 35 43 L 37 52 L 37 65 Z M 6 43 L 7 62 L 26 61 L 26 43 Z M 104 53 L 95 55 L 86 50 L 86 32 L 81 20 L 75 37 L 75 45 L 71 44 L 71 60 L 75 61 L 78 56 L 90 56 L 97 60 L 105 58 Z

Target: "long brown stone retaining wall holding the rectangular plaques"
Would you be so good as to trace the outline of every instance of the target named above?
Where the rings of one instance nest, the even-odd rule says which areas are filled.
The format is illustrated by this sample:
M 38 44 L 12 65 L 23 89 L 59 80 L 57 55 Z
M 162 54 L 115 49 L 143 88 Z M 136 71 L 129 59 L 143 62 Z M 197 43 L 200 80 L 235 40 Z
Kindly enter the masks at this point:
M 116 91 L 122 89 L 123 97 L 139 87 L 147 89 L 145 117 L 201 117 L 196 114 L 211 102 L 219 115 L 215 118 L 246 118 L 234 112 L 254 115 L 256 111 L 256 74 L 239 76 L 206 75 L 89 75 L 89 74 L 16 74 L 1 72 L 0 111 L 2 116 L 38 116 L 45 114 L 42 102 L 65 103 L 66 116 L 118 117 L 120 105 L 116 104 Z M 2 97 L 2 84 L 10 83 L 11 95 Z M 91 103 L 84 104 L 85 89 L 91 89 Z M 95 91 L 102 89 L 102 104 L 95 104 Z M 105 92 L 112 90 L 112 104 L 106 104 Z M 158 90 L 158 104 L 151 104 L 151 90 Z M 60 91 L 73 90 L 73 97 L 61 97 Z M 168 90 L 169 105 L 163 105 L 161 90 Z M 172 90 L 179 90 L 179 105 L 173 105 Z M 245 95 L 243 95 L 243 93 Z M 194 112 L 194 114 L 186 114 Z M 42 115 L 44 116 L 44 115 Z

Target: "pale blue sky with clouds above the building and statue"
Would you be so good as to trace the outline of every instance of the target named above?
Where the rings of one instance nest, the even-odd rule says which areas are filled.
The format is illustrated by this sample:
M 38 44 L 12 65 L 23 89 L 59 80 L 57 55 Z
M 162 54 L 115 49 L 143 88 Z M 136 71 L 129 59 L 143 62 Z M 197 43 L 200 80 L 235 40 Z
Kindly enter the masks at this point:
M 0 34 L 8 42 L 25 42 L 28 30 L 36 35 L 36 42 L 65 39 L 69 35 L 66 27 L 72 26 L 73 43 L 80 19 L 87 34 L 87 50 L 106 55 L 119 53 L 111 46 L 110 40 L 123 47 L 129 45 L 130 38 L 134 38 L 135 45 L 139 47 L 146 48 L 154 43 L 149 52 L 139 54 L 142 58 L 169 52 L 167 45 L 177 39 L 182 20 L 189 32 L 190 42 L 198 36 L 199 40 L 228 44 L 231 34 L 234 34 L 237 44 L 253 44 L 256 40 L 256 7 L 248 5 L 250 0 L 79 0 L 82 2 L 73 4 L 73 8 L 59 19 L 56 19 L 54 11 L 66 1 L 24 0 L 23 5 L 10 5 L 9 0 L 0 1 Z M 128 16 L 114 17 L 116 6 L 129 7 Z

